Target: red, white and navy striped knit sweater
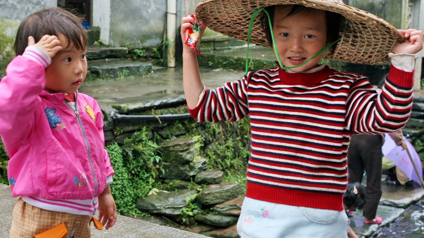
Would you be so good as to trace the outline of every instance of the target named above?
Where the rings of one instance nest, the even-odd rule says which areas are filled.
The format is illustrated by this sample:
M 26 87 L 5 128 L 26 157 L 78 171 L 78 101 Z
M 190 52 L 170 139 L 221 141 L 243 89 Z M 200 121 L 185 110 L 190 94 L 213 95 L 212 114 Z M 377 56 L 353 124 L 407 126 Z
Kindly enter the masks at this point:
M 189 111 L 197 122 L 249 115 L 247 197 L 341 211 L 351 134 L 402 128 L 412 90 L 413 72 L 394 66 L 380 95 L 366 77 L 327 66 L 308 74 L 265 68 L 206 90 Z

